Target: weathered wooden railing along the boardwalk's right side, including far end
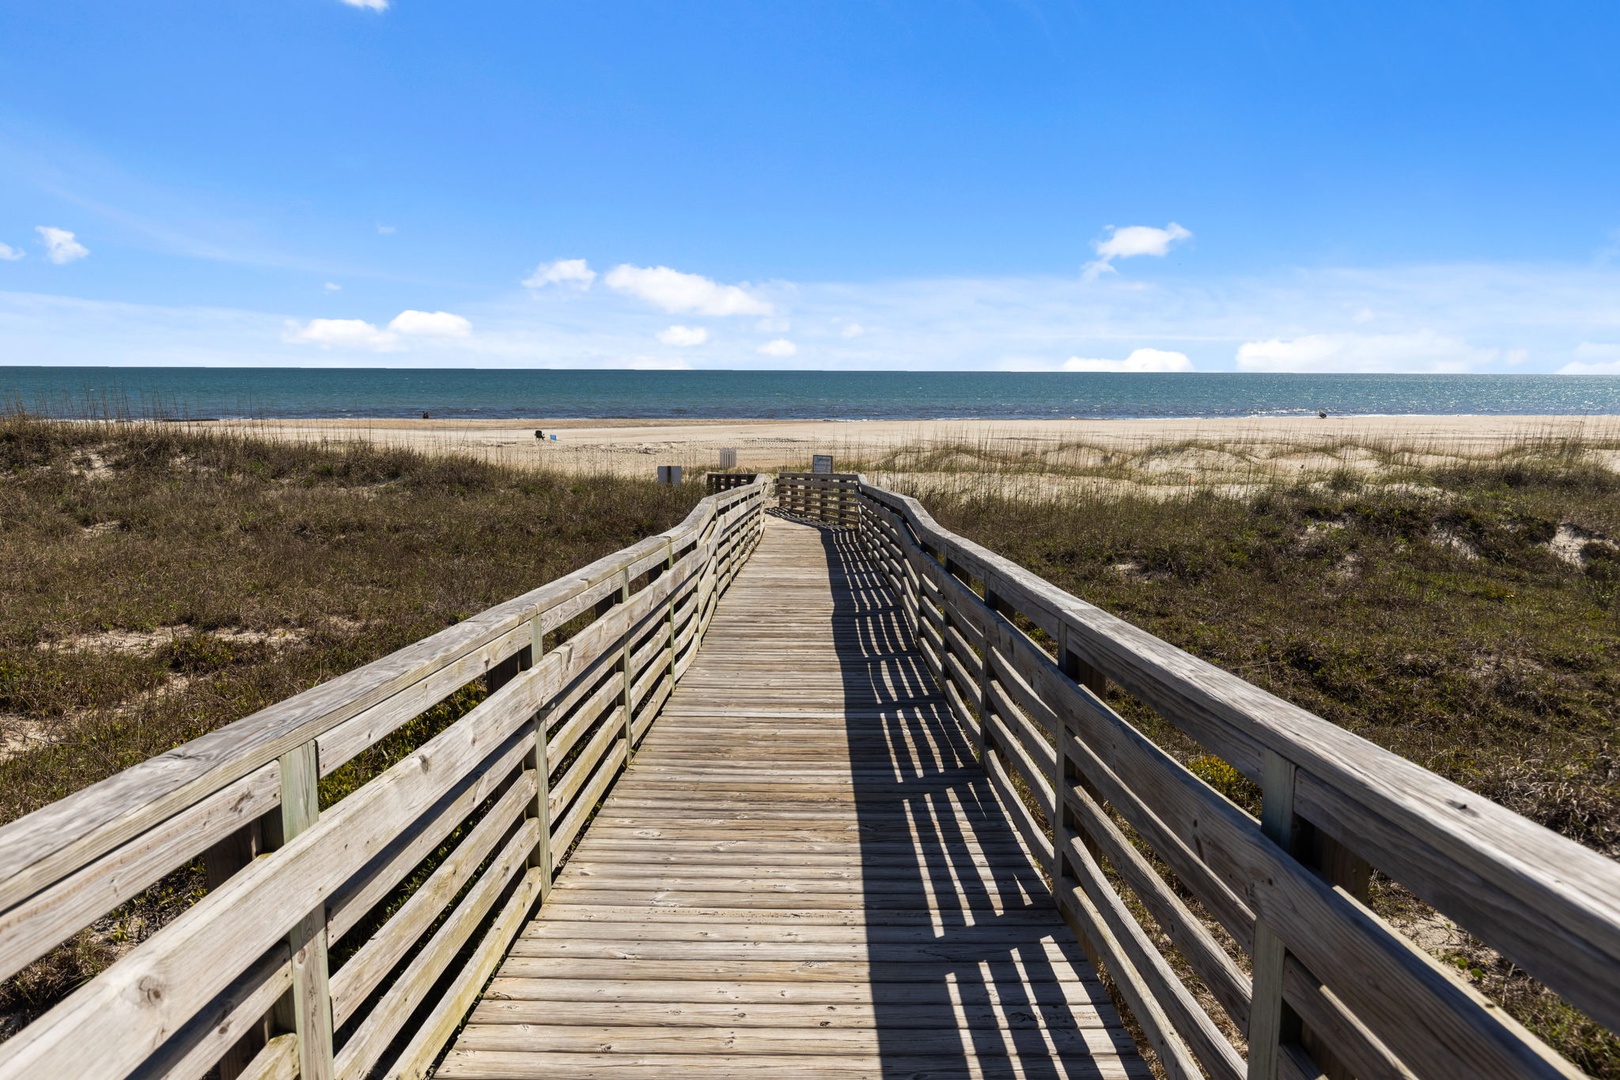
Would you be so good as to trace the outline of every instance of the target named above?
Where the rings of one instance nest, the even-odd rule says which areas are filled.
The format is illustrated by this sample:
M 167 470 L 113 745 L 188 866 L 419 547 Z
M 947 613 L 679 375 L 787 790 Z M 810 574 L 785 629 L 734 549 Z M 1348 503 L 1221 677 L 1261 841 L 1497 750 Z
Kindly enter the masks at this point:
M 1583 1075 L 1380 920 L 1374 868 L 1620 1030 L 1615 861 L 1063 593 L 915 499 L 857 474 L 784 473 L 778 494 L 859 531 L 1170 1077 Z M 1108 680 L 1257 784 L 1260 813 L 1126 722 Z

